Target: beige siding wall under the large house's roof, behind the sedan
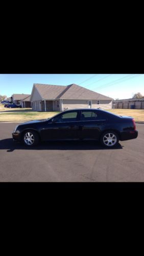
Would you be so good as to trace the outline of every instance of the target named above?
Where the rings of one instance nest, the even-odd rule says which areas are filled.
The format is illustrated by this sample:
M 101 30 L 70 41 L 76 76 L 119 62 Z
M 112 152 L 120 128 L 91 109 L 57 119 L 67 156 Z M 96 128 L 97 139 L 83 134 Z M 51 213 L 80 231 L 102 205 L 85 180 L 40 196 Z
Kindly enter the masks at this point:
M 62 100 L 62 110 L 64 109 L 88 109 L 88 100 Z M 97 104 L 97 100 L 92 100 L 91 108 L 97 109 L 111 109 L 112 101 L 111 100 L 100 100 L 100 104 Z

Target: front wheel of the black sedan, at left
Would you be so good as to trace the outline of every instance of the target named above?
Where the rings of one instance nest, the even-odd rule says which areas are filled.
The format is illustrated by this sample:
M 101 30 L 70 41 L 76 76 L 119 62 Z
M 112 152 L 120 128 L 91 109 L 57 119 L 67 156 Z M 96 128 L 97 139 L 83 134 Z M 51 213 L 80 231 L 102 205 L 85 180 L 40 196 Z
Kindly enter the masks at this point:
M 39 143 L 39 140 L 39 136 L 35 131 L 28 130 L 23 133 L 22 141 L 28 147 L 36 146 Z

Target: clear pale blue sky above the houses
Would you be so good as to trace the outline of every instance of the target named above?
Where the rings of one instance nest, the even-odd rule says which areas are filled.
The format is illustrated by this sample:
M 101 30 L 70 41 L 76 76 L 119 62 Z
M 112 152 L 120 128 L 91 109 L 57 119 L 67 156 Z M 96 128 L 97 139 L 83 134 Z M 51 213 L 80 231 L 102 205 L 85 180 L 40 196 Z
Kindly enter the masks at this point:
M 31 94 L 33 83 L 67 86 L 76 83 L 113 99 L 144 95 L 144 74 L 0 74 L 0 94 Z

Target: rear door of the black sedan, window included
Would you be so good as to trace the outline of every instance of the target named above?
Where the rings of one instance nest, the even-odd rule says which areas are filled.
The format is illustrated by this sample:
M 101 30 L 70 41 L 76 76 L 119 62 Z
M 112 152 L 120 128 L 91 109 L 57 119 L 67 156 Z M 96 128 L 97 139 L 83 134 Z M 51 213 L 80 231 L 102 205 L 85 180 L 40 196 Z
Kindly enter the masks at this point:
M 97 110 L 82 110 L 79 122 L 79 138 L 98 140 L 106 119 Z

